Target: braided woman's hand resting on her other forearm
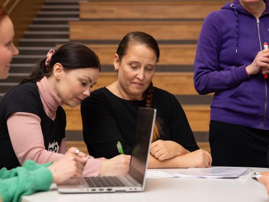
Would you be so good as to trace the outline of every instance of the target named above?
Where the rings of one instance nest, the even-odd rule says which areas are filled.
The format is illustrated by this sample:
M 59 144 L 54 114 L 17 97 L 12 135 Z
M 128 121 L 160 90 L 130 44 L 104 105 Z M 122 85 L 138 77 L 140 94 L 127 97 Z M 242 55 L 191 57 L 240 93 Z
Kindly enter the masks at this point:
M 159 161 L 190 153 L 180 144 L 170 140 L 157 140 L 150 146 L 150 153 Z

